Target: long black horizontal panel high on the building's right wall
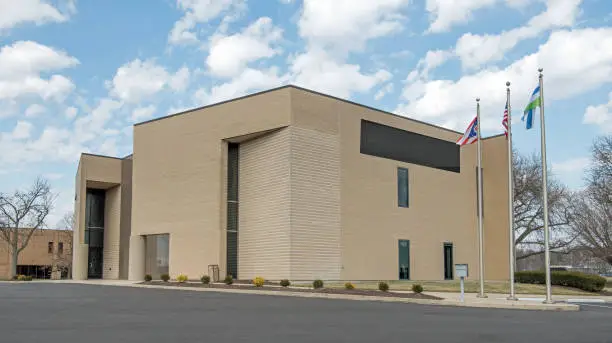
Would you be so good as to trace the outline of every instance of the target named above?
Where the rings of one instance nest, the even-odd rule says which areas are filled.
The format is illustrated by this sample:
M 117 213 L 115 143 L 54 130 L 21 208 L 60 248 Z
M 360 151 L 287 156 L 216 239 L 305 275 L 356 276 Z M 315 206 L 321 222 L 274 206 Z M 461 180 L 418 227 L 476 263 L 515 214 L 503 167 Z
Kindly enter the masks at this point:
M 362 154 L 460 172 L 459 146 L 415 132 L 361 121 Z

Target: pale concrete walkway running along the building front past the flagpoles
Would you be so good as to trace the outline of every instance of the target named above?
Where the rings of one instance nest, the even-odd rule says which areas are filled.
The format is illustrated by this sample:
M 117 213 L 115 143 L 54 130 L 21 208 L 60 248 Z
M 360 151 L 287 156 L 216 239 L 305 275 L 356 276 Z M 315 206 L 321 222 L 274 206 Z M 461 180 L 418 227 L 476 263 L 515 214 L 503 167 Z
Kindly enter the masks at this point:
M 443 300 L 428 300 L 428 299 L 410 299 L 410 298 L 391 298 L 377 296 L 362 296 L 350 294 L 326 294 L 326 293 L 304 293 L 304 292 L 278 292 L 267 291 L 265 289 L 227 289 L 227 288 L 191 288 L 191 287 L 176 287 L 169 284 L 166 285 L 142 285 L 139 282 L 127 280 L 39 280 L 35 282 L 48 283 L 66 283 L 66 284 L 83 284 L 83 285 L 104 285 L 104 286 L 123 286 L 123 287 L 138 287 L 138 288 L 155 288 L 155 289 L 172 289 L 180 291 L 198 291 L 198 292 L 219 292 L 219 293 L 241 293 L 241 294 L 258 294 L 270 296 L 291 296 L 305 298 L 327 298 L 327 299 L 345 299 L 358 301 L 381 301 L 381 302 L 401 302 L 401 303 L 416 303 L 425 305 L 442 305 L 442 306 L 459 306 L 459 307 L 478 307 L 478 308 L 501 308 L 501 309 L 521 309 L 521 310 L 552 310 L 552 311 L 578 311 L 580 306 L 571 302 L 589 302 L 589 300 L 597 299 L 598 302 L 612 303 L 612 297 L 592 297 L 591 299 L 582 299 L 586 301 L 568 301 L 575 300 L 572 296 L 554 296 L 553 304 L 544 304 L 542 296 L 538 295 L 519 295 L 518 301 L 507 300 L 507 295 L 504 294 L 488 294 L 487 298 L 478 298 L 475 293 L 466 293 L 464 301 L 460 301 L 459 293 L 438 293 L 427 292 L 429 295 L 443 298 Z M 584 298 L 584 297 L 581 297 Z

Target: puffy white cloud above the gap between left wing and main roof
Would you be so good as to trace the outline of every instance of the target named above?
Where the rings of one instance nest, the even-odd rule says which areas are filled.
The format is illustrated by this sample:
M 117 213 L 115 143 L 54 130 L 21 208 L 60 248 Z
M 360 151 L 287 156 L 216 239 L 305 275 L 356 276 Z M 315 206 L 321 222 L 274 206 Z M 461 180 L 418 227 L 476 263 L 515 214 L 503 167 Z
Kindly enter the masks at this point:
M 175 74 L 152 60 L 135 59 L 124 64 L 107 83 L 110 94 L 122 101 L 137 103 L 169 87 L 176 91 L 186 88 L 189 81 L 189 70 L 181 68 Z

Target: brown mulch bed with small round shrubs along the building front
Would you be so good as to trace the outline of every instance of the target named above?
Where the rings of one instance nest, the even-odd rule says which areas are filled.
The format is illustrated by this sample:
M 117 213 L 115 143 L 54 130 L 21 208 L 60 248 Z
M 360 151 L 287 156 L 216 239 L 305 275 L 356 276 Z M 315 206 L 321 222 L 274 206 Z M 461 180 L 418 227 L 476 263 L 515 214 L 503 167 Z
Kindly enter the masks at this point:
M 178 282 L 163 282 L 163 281 L 149 281 L 141 282 L 141 285 L 156 285 L 156 286 L 175 286 L 175 287 L 191 287 L 191 288 L 224 288 L 224 289 L 248 289 L 248 290 L 260 290 L 260 291 L 273 291 L 273 292 L 294 292 L 294 293 L 322 293 L 322 294 L 349 294 L 349 295 L 362 295 L 362 296 L 376 296 L 376 297 L 389 297 L 389 298 L 410 298 L 410 299 L 428 299 L 428 300 L 442 300 L 442 298 L 434 297 L 428 294 L 418 293 L 395 293 L 395 292 L 381 292 L 375 290 L 366 289 L 342 289 L 342 288 L 285 288 L 285 287 L 255 287 L 252 285 L 244 284 L 244 286 L 225 285 L 225 284 L 210 284 L 204 285 L 201 283 L 178 283 Z

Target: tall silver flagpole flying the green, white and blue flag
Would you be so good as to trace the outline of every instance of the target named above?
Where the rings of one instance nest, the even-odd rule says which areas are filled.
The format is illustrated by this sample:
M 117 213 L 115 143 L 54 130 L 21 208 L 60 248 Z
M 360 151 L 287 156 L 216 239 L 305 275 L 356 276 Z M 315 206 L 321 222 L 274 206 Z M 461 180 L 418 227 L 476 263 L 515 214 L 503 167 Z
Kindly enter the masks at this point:
M 540 81 L 540 141 L 542 144 L 542 201 L 544 207 L 544 264 L 546 269 L 546 300 L 547 304 L 552 303 L 551 295 L 551 281 L 550 281 L 550 246 L 548 230 L 548 177 L 546 172 L 546 129 L 544 122 L 544 76 L 542 71 L 544 69 L 538 69 L 539 81 Z

